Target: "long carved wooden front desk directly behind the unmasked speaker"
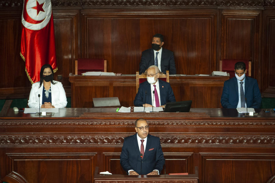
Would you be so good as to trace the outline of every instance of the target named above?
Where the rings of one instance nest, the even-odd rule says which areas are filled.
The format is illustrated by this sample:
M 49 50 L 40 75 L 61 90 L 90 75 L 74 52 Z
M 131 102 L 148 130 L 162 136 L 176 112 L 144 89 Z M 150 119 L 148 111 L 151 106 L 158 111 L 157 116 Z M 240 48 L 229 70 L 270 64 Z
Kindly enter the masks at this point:
M 66 108 L 38 117 L 10 109 L 0 118 L 0 178 L 10 173 L 28 183 L 93 182 L 97 166 L 99 172 L 125 174 L 119 163 L 123 139 L 135 133 L 140 117 L 148 120 L 150 134 L 160 138 L 166 174 L 195 174 L 197 166 L 200 183 L 275 177 L 274 113 L 256 109 L 259 117 L 242 117 L 235 109 L 114 111 Z

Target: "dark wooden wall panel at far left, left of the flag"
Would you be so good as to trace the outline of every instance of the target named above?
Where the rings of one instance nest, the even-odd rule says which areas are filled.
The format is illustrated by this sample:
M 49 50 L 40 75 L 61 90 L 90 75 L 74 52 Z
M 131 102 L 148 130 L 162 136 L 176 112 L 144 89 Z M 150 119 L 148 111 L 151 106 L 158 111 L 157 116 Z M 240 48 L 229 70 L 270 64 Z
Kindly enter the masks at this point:
M 6 88 L 30 86 L 25 62 L 20 56 L 21 13 L 18 10 L 0 11 L 0 94 Z

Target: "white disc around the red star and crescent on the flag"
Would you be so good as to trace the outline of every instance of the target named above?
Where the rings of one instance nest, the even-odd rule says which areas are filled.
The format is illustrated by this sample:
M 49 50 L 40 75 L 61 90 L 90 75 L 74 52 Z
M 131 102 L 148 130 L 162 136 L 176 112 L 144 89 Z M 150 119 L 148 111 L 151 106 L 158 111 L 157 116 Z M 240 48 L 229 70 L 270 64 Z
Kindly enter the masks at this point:
M 50 0 L 37 0 L 39 4 L 44 3 L 43 5 L 43 9 L 45 12 L 40 11 L 37 15 L 37 10 L 33 9 L 32 7 L 36 6 L 36 0 L 29 0 L 27 2 L 26 5 L 26 9 L 25 11 L 28 13 L 28 15 L 36 21 L 41 21 L 40 23 L 30 23 L 27 22 L 24 17 L 23 17 L 23 12 L 22 12 L 22 16 L 21 16 L 21 20 L 22 20 L 22 24 L 24 25 L 24 27 L 26 27 L 27 29 L 31 29 L 31 30 L 40 30 L 42 28 L 44 28 L 46 25 L 48 25 L 51 16 L 52 16 L 52 3 Z M 24 11 L 24 10 L 23 10 Z

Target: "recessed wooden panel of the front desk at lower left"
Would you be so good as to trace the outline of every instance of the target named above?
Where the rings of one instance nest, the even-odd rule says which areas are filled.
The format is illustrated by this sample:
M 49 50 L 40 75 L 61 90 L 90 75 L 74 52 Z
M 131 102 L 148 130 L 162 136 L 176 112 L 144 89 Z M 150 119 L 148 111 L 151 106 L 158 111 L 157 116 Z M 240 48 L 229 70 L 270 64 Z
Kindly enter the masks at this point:
M 6 156 L 12 171 L 23 176 L 28 183 L 90 182 L 97 159 L 96 153 L 68 152 L 7 153 Z

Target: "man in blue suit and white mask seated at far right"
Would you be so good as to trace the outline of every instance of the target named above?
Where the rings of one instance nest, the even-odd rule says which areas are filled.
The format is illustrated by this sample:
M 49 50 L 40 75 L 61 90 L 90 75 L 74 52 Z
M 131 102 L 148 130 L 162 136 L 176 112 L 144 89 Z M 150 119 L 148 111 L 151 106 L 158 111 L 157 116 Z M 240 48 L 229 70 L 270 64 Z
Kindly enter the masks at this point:
M 244 62 L 237 62 L 234 71 L 235 77 L 224 82 L 221 105 L 224 108 L 260 108 L 262 98 L 257 80 L 245 76 Z

